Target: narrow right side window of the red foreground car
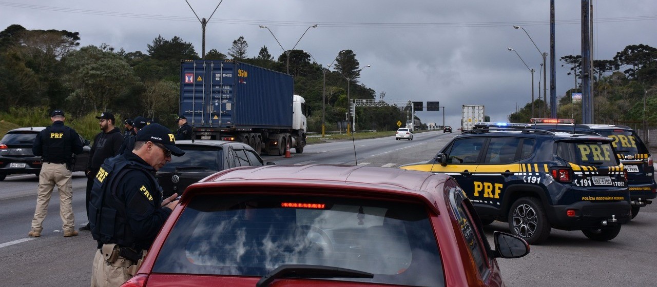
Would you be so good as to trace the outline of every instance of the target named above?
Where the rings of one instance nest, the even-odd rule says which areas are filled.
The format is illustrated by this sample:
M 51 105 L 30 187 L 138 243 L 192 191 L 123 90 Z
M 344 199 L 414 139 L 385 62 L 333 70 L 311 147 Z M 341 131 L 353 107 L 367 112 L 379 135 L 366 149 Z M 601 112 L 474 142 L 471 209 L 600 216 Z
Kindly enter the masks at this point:
M 482 230 L 478 228 L 477 224 L 480 224 L 480 221 L 469 212 L 469 208 L 464 202 L 464 195 L 461 188 L 453 188 L 450 190 L 449 201 L 451 203 L 454 216 L 459 222 L 459 227 L 461 227 L 461 233 L 463 233 L 463 239 L 465 240 L 466 245 L 468 246 L 468 251 L 474 259 L 474 264 L 477 266 L 479 274 L 482 277 L 486 276 L 488 271 L 488 265 L 486 264 L 486 245 L 484 245 L 484 240 L 486 237 Z

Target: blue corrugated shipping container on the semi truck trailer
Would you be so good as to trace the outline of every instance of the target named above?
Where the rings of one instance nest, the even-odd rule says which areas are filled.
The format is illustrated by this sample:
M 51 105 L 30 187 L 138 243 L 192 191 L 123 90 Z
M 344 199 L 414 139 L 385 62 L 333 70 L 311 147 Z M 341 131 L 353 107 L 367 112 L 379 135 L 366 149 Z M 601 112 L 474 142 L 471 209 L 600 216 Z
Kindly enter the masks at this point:
M 181 62 L 180 114 L 192 126 L 290 128 L 292 76 L 236 61 Z

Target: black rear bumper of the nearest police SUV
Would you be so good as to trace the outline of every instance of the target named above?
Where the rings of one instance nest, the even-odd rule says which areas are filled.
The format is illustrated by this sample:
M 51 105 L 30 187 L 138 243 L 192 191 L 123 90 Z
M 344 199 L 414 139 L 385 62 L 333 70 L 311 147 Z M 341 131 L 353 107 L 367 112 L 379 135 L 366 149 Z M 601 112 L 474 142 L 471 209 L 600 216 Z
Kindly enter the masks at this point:
M 581 230 L 627 223 L 631 219 L 630 208 L 627 201 L 580 201 L 570 205 L 551 206 L 545 211 L 556 229 Z M 574 210 L 575 215 L 568 216 L 568 210 Z

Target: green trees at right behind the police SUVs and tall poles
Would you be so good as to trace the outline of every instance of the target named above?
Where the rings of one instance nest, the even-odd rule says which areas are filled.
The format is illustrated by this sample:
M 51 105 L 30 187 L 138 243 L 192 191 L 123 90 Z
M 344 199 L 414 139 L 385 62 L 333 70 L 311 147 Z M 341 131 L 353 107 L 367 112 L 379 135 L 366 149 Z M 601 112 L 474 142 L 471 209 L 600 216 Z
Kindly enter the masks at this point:
M 573 76 L 572 88 L 558 99 L 557 116 L 581 123 L 581 102 L 572 94 L 581 92 L 581 55 L 562 56 L 562 67 Z M 611 60 L 593 61 L 593 123 L 643 123 L 657 126 L 657 48 L 628 45 Z M 560 83 L 560 85 L 568 85 Z M 540 98 L 533 102 L 534 115 L 549 115 L 549 107 Z M 529 123 L 532 103 L 509 115 L 514 123 Z

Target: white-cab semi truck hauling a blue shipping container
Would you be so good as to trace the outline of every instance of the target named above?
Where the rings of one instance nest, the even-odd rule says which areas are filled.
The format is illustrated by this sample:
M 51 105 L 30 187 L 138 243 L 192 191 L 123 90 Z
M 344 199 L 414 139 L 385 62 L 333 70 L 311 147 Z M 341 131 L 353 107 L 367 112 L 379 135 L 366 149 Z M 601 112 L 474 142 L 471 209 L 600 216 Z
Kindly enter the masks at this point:
M 291 75 L 233 60 L 181 61 L 179 113 L 193 139 L 247 143 L 284 155 L 306 146 L 307 110 Z

